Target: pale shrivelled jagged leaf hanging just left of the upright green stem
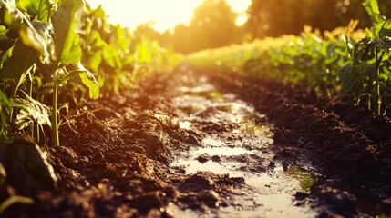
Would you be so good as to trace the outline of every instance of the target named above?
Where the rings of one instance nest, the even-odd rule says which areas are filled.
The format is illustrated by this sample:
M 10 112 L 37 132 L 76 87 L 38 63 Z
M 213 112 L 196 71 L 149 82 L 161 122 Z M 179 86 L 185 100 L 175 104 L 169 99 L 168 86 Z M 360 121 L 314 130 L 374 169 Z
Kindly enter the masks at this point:
M 32 124 L 33 122 L 39 125 L 47 124 L 51 126 L 49 118 L 50 108 L 29 97 L 27 94 L 25 94 L 24 98 L 12 98 L 11 105 L 14 108 L 20 109 L 14 122 L 18 130 L 26 128 L 28 124 Z

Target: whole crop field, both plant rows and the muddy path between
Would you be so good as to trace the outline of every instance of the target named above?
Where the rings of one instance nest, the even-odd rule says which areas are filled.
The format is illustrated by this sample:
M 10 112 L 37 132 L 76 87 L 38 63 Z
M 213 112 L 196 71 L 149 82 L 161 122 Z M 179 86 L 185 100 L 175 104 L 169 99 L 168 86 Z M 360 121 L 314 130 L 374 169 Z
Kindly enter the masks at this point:
M 391 19 L 184 55 L 0 0 L 0 216 L 390 217 Z

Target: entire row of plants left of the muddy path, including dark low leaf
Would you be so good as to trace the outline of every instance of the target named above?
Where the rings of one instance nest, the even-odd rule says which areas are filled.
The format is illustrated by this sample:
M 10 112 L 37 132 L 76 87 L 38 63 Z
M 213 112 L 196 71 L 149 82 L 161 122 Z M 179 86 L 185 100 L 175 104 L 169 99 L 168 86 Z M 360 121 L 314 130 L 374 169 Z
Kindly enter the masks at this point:
M 60 145 L 70 106 L 137 85 L 179 60 L 106 20 L 84 0 L 0 0 L 0 215 L 14 203 L 32 203 L 36 187 L 56 187 L 36 143 Z

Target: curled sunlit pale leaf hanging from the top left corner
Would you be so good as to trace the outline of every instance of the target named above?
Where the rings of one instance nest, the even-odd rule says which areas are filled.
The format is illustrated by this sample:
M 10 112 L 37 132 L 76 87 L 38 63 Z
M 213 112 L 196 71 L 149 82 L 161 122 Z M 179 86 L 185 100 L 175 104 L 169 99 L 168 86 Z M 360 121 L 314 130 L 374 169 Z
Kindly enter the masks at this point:
M 26 15 L 13 5 L 0 1 L 0 21 L 7 27 L 17 30 L 25 45 L 33 47 L 40 54 L 48 54 L 46 39 L 36 32 Z

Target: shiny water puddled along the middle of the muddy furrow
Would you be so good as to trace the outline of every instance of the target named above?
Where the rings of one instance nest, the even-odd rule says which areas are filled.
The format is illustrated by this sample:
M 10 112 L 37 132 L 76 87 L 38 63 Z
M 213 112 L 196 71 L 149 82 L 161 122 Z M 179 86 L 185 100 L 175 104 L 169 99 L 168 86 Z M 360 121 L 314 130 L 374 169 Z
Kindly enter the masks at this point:
M 282 166 L 264 170 L 273 161 L 273 152 L 268 149 L 273 144 L 272 125 L 265 123 L 264 114 L 256 113 L 252 106 L 232 94 L 220 94 L 206 79 L 197 87 L 180 87 L 179 90 L 185 95 L 175 98 L 174 104 L 180 108 L 198 108 L 197 112 L 184 111 L 179 122 L 181 128 L 202 132 L 196 125 L 200 120 L 237 126 L 231 132 L 208 134 L 202 139 L 203 147 L 180 154 L 172 163 L 174 167 L 184 168 L 187 174 L 209 171 L 244 178 L 246 186 L 235 190 L 238 194 L 232 196 L 237 203 L 221 208 L 217 217 L 314 216 L 310 208 L 293 205 L 293 194 L 304 191 L 310 183 L 305 180 L 307 174 L 299 169 L 285 173 Z M 261 147 L 269 154 L 263 153 Z M 200 155 L 207 158 L 205 163 L 197 161 Z M 221 157 L 219 162 L 211 161 L 215 155 Z M 193 217 L 192 213 L 178 214 Z

